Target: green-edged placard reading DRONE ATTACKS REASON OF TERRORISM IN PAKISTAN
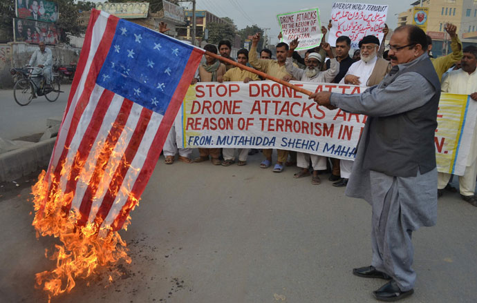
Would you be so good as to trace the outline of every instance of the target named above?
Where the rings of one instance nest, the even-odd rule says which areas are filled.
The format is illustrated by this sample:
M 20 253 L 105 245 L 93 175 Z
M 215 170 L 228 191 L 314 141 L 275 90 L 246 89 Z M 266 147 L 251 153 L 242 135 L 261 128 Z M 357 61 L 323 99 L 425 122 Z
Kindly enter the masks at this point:
M 296 50 L 316 48 L 321 43 L 323 34 L 318 8 L 277 14 L 277 19 L 282 35 L 281 42 L 290 44 L 290 41 L 298 38 L 300 43 Z

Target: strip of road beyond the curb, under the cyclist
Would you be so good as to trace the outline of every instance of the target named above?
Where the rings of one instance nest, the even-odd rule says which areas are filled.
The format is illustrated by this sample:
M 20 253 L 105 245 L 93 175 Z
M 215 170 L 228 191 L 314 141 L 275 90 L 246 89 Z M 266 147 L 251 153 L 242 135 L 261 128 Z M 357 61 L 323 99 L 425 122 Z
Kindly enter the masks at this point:
M 13 98 L 13 90 L 0 90 L 0 138 L 17 139 L 19 137 L 43 133 L 46 119 L 63 117 L 68 102 L 71 84 L 62 84 L 55 102 L 45 97 L 33 99 L 27 106 L 19 106 Z

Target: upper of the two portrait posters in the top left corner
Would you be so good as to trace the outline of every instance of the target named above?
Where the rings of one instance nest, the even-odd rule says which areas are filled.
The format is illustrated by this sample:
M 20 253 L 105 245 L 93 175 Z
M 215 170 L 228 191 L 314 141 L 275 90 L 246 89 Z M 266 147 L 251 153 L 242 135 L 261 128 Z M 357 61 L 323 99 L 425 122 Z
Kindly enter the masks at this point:
M 15 0 L 17 17 L 43 22 L 58 21 L 58 3 L 46 0 Z

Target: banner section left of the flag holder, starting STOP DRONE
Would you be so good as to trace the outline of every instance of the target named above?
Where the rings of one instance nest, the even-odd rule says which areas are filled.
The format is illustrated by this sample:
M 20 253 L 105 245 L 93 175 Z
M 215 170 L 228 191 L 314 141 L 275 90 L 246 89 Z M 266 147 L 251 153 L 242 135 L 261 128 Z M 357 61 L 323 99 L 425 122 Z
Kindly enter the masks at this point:
M 356 93 L 358 86 L 293 82 L 306 90 Z M 328 110 L 272 81 L 198 83 L 176 119 L 185 147 L 280 148 L 354 159 L 366 117 Z

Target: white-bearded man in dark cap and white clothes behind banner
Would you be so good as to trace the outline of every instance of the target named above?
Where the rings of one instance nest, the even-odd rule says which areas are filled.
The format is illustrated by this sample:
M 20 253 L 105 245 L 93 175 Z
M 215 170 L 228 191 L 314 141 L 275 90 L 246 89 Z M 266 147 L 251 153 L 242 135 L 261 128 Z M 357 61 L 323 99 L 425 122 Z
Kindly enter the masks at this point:
M 379 84 L 384 76 L 391 70 L 391 62 L 377 57 L 377 50 L 380 48 L 380 40 L 375 36 L 366 36 L 359 41 L 361 60 L 353 63 L 346 75 L 339 81 L 341 84 L 353 84 L 359 86 L 375 86 Z M 352 160 L 340 160 L 340 174 L 342 179 L 333 183 L 335 187 L 343 187 L 348 184 L 348 179 L 353 169 Z

